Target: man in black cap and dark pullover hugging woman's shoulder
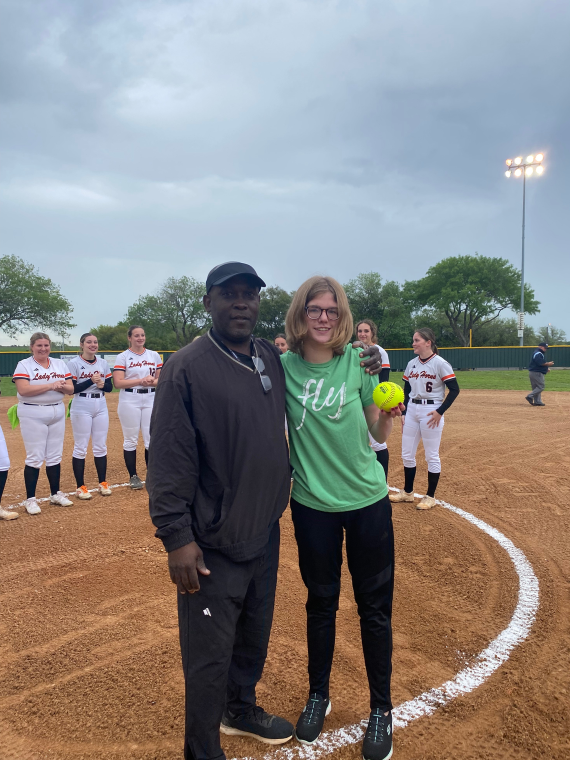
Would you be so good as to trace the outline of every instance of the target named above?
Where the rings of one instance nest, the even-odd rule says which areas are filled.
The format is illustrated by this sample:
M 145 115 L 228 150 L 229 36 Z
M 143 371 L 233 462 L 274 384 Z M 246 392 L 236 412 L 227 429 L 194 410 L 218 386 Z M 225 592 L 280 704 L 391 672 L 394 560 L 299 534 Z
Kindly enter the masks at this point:
M 252 337 L 261 287 L 237 261 L 208 274 L 212 328 L 164 365 L 150 423 L 150 517 L 179 591 L 186 760 L 223 758 L 220 730 L 293 736 L 255 702 L 290 491 L 279 351 Z M 374 374 L 378 356 L 364 353 Z

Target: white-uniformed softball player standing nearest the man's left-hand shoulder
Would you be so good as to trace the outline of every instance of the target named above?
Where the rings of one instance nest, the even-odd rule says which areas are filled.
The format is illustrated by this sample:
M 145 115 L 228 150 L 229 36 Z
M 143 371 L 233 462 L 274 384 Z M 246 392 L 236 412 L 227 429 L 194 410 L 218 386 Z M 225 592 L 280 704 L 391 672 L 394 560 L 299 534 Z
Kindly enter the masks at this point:
M 137 474 L 138 432 L 142 432 L 144 460 L 148 464 L 150 415 L 163 363 L 156 351 L 149 351 L 144 347 L 143 328 L 131 325 L 127 334 L 129 348 L 117 356 L 112 376 L 115 387 L 121 389 L 118 413 L 124 438 L 122 448 L 130 477 L 129 484 L 132 489 L 138 490 L 143 487 Z

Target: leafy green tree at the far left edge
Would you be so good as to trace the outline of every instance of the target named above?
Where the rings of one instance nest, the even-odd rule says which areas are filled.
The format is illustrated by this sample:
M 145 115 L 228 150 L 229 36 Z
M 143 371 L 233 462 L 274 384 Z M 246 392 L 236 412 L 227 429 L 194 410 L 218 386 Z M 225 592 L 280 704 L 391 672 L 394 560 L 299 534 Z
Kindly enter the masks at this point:
M 68 336 L 73 307 L 59 287 L 17 256 L 0 258 L 0 330 L 14 337 L 43 328 Z

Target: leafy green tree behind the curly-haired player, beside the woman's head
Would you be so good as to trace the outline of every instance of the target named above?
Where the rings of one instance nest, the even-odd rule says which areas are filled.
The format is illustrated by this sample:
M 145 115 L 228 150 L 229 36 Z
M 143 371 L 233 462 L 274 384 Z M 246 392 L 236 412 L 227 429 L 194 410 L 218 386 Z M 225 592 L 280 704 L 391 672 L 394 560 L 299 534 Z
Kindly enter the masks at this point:
M 378 328 L 378 343 L 384 348 L 410 345 L 413 334 L 411 307 L 402 287 L 394 280 L 382 282 L 378 272 L 361 273 L 345 286 L 354 325 L 372 319 Z

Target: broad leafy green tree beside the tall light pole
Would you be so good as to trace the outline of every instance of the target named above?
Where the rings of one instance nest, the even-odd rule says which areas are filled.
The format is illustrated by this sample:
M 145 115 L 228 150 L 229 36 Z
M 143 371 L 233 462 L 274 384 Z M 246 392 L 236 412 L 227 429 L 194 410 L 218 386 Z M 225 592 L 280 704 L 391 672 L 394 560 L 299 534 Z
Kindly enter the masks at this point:
M 504 309 L 518 310 L 521 273 L 504 258 L 450 256 L 404 289 L 416 309 L 430 306 L 444 312 L 458 343 L 467 346 L 470 330 L 476 334 Z M 526 312 L 536 314 L 539 306 L 534 290 L 525 284 Z

